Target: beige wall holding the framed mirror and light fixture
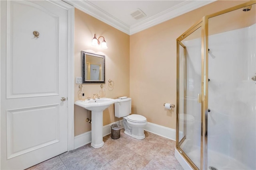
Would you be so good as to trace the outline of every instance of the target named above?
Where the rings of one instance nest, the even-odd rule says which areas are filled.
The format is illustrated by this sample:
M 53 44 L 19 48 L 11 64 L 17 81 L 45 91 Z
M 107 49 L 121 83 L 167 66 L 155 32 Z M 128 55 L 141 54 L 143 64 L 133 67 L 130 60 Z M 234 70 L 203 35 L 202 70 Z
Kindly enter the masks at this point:
M 108 49 L 100 49 L 91 46 L 92 38 L 104 36 Z M 103 39 L 100 39 L 102 41 Z M 75 9 L 75 29 L 74 29 L 74 62 L 75 77 L 81 76 L 81 51 L 96 53 L 106 56 L 106 72 L 104 88 L 106 89 L 106 98 L 117 98 L 120 96 L 129 96 L 129 46 L 130 36 L 110 25 L 89 16 L 88 14 Z M 108 80 L 114 81 L 114 88 L 108 88 Z M 74 80 L 75 83 L 75 80 Z M 75 101 L 78 100 L 78 85 L 75 84 Z M 99 94 L 100 84 L 82 84 L 85 97 L 93 97 L 93 94 Z M 82 107 L 74 108 L 75 136 L 91 130 L 91 124 L 86 122 L 88 111 Z M 93 120 L 92 120 L 93 121 Z M 114 117 L 114 105 L 104 110 L 103 125 L 108 125 L 118 121 Z

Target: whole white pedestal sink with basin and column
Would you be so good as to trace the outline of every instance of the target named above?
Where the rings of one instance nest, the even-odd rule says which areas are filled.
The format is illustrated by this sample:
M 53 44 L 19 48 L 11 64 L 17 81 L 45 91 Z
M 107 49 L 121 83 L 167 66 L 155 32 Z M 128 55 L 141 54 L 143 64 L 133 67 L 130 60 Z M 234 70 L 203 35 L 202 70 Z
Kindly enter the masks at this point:
M 92 143 L 94 148 L 101 148 L 104 145 L 102 137 L 103 110 L 108 108 L 116 100 L 110 98 L 100 98 L 91 100 L 79 100 L 75 104 L 92 111 Z

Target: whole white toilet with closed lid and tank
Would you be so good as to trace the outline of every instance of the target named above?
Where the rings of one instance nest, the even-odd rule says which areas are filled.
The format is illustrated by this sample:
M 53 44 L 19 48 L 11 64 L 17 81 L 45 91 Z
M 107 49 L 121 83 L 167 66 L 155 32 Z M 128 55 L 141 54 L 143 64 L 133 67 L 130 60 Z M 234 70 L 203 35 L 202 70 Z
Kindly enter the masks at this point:
M 124 133 L 136 139 L 144 139 L 144 127 L 147 125 L 146 117 L 142 115 L 132 114 L 132 99 L 121 97 L 116 99 L 115 117 L 122 117 L 124 124 Z

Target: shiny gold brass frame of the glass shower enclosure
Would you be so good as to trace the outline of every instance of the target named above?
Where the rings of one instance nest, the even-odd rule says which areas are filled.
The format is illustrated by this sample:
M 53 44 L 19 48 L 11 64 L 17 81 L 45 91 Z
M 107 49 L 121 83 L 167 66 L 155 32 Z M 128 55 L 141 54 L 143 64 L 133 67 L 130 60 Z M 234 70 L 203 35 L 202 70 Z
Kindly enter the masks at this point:
M 180 37 L 176 39 L 176 50 L 177 50 L 177 63 L 176 63 L 176 72 L 177 72 L 177 90 L 176 90 L 176 149 L 178 152 L 188 161 L 188 163 L 192 166 L 193 169 L 198 170 L 199 168 L 190 160 L 190 158 L 186 155 L 186 153 L 180 148 L 179 145 L 179 108 L 180 108 L 180 84 L 179 84 L 179 79 L 180 79 L 180 60 L 179 60 L 179 55 L 180 55 L 180 45 L 182 46 L 181 41 L 188 37 L 191 33 L 196 31 L 201 27 L 201 94 L 200 98 L 198 98 L 198 102 L 201 103 L 201 152 L 200 152 L 200 169 L 205 169 L 207 170 L 207 131 L 208 131 L 208 20 L 212 17 L 219 16 L 234 10 L 238 10 L 240 8 L 244 8 L 246 6 L 250 6 L 252 4 L 256 4 L 256 0 L 251 0 L 250 2 L 246 2 L 244 4 L 240 4 L 237 6 L 234 6 L 232 8 L 228 8 L 226 10 L 222 10 L 220 12 L 216 12 L 214 14 L 210 14 L 207 16 L 204 16 L 202 20 L 198 21 L 195 23 L 192 27 L 190 27 L 186 32 L 184 32 Z M 184 46 L 184 45 L 183 45 Z M 183 47 L 182 46 L 182 47 Z M 186 47 L 183 47 L 186 49 Z M 186 55 L 186 52 L 184 53 Z M 184 57 L 186 60 L 186 56 Z M 185 61 L 186 63 L 186 61 Z M 186 72 L 184 73 L 186 74 Z M 184 75 L 184 78 L 186 75 Z M 186 82 L 184 80 L 184 82 Z M 184 85 L 184 92 L 186 92 L 186 84 Z M 185 100 L 186 94 L 184 94 L 184 100 Z M 185 103 L 185 101 L 184 101 Z M 185 107 L 185 106 L 184 106 Z M 184 108 L 185 109 L 185 108 Z M 181 141 L 183 142 L 183 140 Z

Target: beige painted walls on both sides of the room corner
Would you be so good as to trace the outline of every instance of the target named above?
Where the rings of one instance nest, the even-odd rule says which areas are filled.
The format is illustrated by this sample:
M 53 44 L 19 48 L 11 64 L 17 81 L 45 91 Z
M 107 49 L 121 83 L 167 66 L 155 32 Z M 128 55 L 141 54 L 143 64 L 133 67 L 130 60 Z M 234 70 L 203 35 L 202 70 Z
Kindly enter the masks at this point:
M 176 110 L 164 109 L 164 103 L 176 105 L 176 38 L 203 16 L 247 1 L 216 1 L 154 27 L 127 35 L 80 10 L 75 10 L 75 77 L 81 76 L 81 51 L 106 55 L 106 97 L 132 98 L 132 113 L 144 115 L 148 122 L 176 129 Z M 108 49 L 91 46 L 91 40 L 104 36 Z M 108 89 L 108 79 L 114 89 Z M 74 80 L 75 83 L 75 80 Z M 86 98 L 99 93 L 100 84 L 83 84 Z M 75 84 L 75 101 L 78 100 Z M 75 106 L 75 136 L 90 131 L 85 121 L 88 111 Z M 103 124 L 118 119 L 114 106 L 104 111 Z

